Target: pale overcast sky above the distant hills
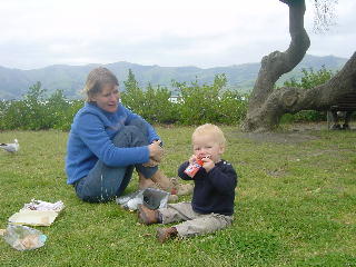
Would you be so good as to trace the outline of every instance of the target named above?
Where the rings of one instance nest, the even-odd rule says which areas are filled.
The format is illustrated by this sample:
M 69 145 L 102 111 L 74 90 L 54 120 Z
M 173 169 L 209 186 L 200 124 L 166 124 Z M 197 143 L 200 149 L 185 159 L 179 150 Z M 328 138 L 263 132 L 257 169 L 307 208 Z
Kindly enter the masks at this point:
M 307 53 L 349 58 L 356 1 L 335 6 L 335 24 L 313 31 Z M 259 62 L 290 41 L 288 7 L 278 0 L 1 0 L 0 66 L 38 69 L 128 61 L 162 67 Z

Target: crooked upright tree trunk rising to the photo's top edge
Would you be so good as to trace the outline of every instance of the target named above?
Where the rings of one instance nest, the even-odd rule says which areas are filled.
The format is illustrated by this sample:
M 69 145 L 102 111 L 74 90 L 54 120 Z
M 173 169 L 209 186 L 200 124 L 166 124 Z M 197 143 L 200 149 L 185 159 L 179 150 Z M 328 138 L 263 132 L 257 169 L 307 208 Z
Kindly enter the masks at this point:
M 304 29 L 305 0 L 280 0 L 289 7 L 289 33 L 291 41 L 286 51 L 271 52 L 261 60 L 261 67 L 251 92 L 248 111 L 243 125 L 245 131 L 265 131 L 273 129 L 279 121 L 284 110 L 280 106 L 293 106 L 294 90 L 285 89 L 285 105 L 270 103 L 270 96 L 279 77 L 293 70 L 304 58 L 310 46 L 309 37 Z M 274 100 L 276 101 L 276 100 Z

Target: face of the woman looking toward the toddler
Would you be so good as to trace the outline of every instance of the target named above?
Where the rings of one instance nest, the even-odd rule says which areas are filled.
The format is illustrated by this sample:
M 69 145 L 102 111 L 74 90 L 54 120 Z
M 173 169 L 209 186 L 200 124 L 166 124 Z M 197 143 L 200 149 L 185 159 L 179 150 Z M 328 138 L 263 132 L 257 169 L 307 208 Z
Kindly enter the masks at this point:
M 90 101 L 97 102 L 97 106 L 105 111 L 115 112 L 118 109 L 119 99 L 118 86 L 107 83 L 102 87 L 101 92 L 90 98 Z

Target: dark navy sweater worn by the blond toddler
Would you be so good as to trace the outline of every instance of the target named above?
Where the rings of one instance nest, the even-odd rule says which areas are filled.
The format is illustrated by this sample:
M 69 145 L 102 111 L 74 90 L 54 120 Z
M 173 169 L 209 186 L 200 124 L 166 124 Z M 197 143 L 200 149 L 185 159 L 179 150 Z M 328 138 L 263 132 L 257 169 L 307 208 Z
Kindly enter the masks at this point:
M 221 160 L 207 172 L 200 168 L 194 178 L 184 171 L 189 162 L 184 162 L 178 175 L 184 180 L 194 180 L 191 207 L 198 214 L 234 214 L 235 188 L 237 186 L 237 175 L 234 167 L 226 160 Z

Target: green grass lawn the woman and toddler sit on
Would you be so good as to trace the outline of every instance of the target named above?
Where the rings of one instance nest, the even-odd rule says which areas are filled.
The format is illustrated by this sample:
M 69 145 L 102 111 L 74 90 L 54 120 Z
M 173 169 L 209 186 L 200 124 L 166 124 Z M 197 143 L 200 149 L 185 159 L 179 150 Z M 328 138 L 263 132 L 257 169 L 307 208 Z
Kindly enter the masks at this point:
M 17 155 L 0 151 L 0 228 L 32 198 L 66 205 L 51 226 L 33 227 L 48 236 L 42 248 L 17 251 L 0 241 L 0 266 L 356 266 L 356 132 L 275 142 L 222 129 L 224 158 L 239 174 L 234 225 L 164 245 L 157 226 L 137 224 L 113 201 L 76 197 L 63 170 L 67 132 L 0 132 L 0 142 L 18 138 L 21 146 Z M 157 130 L 166 148 L 161 169 L 176 176 L 190 155 L 192 128 Z M 135 176 L 127 192 L 137 182 Z

